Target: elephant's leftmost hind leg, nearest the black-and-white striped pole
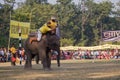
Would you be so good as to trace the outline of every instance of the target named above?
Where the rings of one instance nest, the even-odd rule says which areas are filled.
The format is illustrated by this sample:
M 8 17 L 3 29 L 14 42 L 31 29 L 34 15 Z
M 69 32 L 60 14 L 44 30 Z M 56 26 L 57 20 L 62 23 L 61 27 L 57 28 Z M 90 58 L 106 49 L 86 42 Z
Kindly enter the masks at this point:
M 32 68 L 32 54 L 29 52 L 26 54 L 25 69 Z

